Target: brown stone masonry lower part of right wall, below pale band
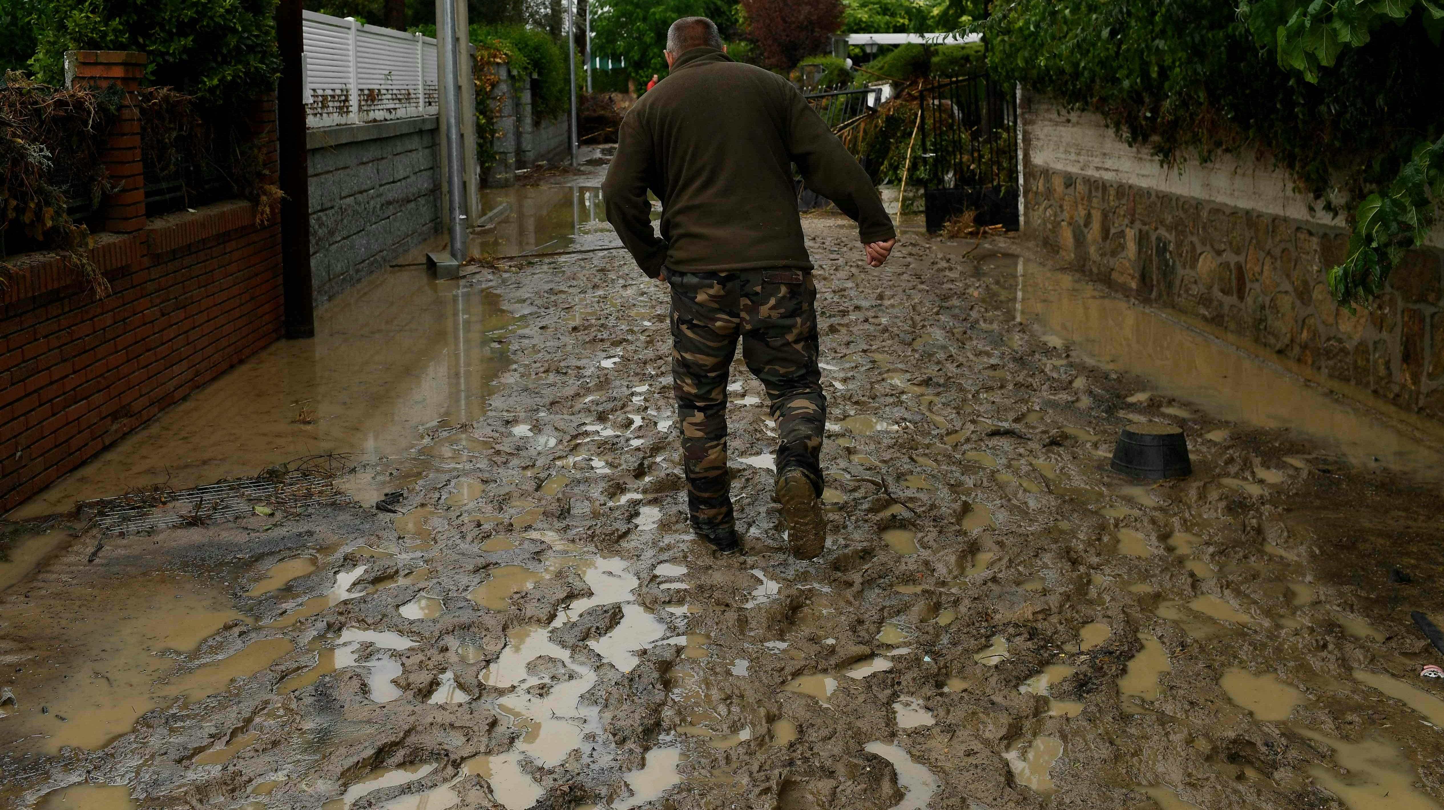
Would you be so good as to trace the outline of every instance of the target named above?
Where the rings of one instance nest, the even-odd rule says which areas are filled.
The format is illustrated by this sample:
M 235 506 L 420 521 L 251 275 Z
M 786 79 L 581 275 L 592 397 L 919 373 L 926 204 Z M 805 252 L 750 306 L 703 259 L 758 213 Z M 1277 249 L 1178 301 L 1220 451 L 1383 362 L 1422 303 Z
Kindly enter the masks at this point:
M 1441 251 L 1414 250 L 1367 309 L 1324 282 L 1343 228 L 1027 163 L 1025 231 L 1073 269 L 1444 422 Z

